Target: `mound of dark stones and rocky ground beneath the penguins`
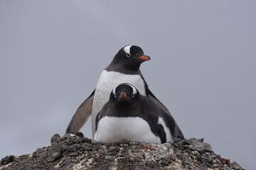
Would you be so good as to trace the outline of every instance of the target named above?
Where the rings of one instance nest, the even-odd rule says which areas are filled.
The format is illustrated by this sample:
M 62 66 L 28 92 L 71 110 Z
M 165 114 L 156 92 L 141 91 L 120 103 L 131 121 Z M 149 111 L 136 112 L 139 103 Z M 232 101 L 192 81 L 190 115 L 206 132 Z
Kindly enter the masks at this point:
M 80 136 L 80 137 L 79 137 Z M 82 134 L 55 134 L 51 145 L 38 148 L 33 154 L 4 157 L 4 169 L 242 169 L 215 154 L 203 139 L 174 139 L 174 142 L 153 145 L 137 142 L 92 144 Z

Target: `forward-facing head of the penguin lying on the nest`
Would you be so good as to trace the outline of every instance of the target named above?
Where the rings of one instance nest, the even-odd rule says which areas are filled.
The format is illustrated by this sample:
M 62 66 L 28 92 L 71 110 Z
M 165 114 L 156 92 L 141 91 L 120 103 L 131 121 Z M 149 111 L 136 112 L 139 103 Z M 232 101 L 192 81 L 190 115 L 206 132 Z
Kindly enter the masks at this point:
M 132 84 L 118 84 L 110 94 L 116 108 L 133 108 L 139 100 L 139 91 Z

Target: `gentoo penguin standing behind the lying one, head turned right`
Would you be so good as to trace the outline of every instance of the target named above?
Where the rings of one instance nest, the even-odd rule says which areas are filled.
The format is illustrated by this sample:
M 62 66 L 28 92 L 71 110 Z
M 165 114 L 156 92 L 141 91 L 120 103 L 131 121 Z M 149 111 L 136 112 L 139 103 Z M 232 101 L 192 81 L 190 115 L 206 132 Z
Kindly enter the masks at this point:
M 95 135 L 95 118 L 102 107 L 107 103 L 110 92 L 117 84 L 129 83 L 135 86 L 139 93 L 151 98 L 159 108 L 169 113 L 167 108 L 151 93 L 139 67 L 142 62 L 150 60 L 144 55 L 141 47 L 127 45 L 122 47 L 114 56 L 112 62 L 102 71 L 98 79 L 96 89 L 80 105 L 68 125 L 66 133 L 78 132 L 86 120 L 92 115 L 92 139 Z M 171 114 L 171 113 L 169 113 Z M 181 135 L 181 130 L 176 125 L 174 136 Z

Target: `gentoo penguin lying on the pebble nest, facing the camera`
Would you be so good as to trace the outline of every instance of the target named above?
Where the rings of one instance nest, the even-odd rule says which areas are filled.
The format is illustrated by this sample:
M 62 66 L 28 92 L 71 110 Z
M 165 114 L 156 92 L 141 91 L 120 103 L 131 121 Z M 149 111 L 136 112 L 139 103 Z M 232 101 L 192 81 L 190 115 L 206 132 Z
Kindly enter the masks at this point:
M 165 143 L 172 141 L 175 120 L 131 84 L 119 84 L 97 114 L 95 141 Z

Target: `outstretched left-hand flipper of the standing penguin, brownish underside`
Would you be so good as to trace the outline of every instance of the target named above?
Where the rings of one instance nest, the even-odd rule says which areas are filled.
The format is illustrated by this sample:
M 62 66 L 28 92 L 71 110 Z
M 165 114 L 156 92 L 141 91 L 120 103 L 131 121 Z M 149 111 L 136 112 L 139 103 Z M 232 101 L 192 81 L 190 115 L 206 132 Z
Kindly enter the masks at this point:
M 68 128 L 65 133 L 79 132 L 80 128 L 85 125 L 87 119 L 92 115 L 92 102 L 95 90 L 92 94 L 79 106 L 78 110 L 70 120 Z

